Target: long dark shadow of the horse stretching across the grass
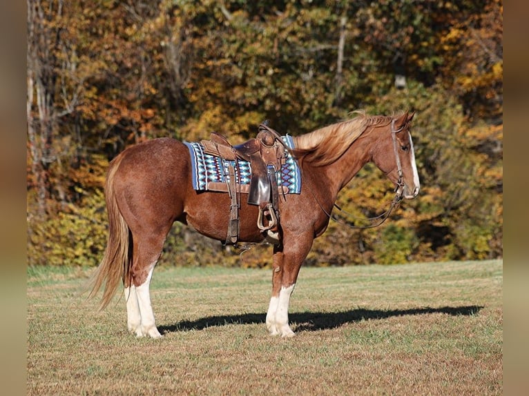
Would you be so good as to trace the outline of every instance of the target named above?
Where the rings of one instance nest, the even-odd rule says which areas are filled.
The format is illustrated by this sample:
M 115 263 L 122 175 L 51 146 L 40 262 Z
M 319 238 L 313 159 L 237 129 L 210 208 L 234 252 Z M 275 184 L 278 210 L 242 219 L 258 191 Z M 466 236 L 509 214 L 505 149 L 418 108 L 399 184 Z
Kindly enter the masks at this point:
M 367 319 L 387 319 L 389 317 L 408 315 L 427 315 L 443 313 L 452 316 L 472 316 L 479 313 L 483 306 L 458 306 L 441 308 L 412 308 L 396 310 L 370 310 L 358 308 L 341 312 L 314 312 L 291 313 L 289 321 L 294 324 L 296 332 L 316 331 L 337 328 L 344 324 L 354 323 Z M 229 324 L 264 324 L 265 313 L 245 313 L 242 315 L 219 315 L 197 319 L 195 321 L 180 321 L 176 324 L 158 326 L 162 334 L 176 331 L 203 330 L 213 326 L 226 326 Z

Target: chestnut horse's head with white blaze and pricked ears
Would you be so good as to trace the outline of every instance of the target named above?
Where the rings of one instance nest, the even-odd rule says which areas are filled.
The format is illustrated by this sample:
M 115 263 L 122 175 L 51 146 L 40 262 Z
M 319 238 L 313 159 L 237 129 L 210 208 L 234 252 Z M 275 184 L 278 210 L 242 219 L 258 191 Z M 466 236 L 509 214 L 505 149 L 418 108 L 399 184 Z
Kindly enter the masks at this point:
M 406 112 L 381 128 L 381 138 L 372 157 L 376 166 L 395 184 L 397 195 L 407 199 L 415 198 L 421 188 L 410 135 L 414 114 Z

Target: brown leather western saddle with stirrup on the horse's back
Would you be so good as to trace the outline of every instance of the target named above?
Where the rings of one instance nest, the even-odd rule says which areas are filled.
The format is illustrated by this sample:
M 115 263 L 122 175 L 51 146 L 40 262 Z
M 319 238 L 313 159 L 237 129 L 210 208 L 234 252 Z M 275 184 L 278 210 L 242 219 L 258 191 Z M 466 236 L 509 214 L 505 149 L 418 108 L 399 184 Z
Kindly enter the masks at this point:
M 255 138 L 238 146 L 232 146 L 225 137 L 216 132 L 211 133 L 211 140 L 202 140 L 200 143 L 206 154 L 235 161 L 234 166 L 228 166 L 226 184 L 216 186 L 218 190 L 227 190 L 231 198 L 226 244 L 236 244 L 239 237 L 238 192 L 248 192 L 248 204 L 259 207 L 257 226 L 267 241 L 280 244 L 279 196 L 280 192 L 284 195 L 286 191 L 282 186 L 278 186 L 276 171 L 285 164 L 289 148 L 278 132 L 269 128 L 267 121 L 264 121 L 260 124 Z M 249 189 L 237 184 L 235 179 L 235 167 L 238 167 L 239 160 L 251 164 Z

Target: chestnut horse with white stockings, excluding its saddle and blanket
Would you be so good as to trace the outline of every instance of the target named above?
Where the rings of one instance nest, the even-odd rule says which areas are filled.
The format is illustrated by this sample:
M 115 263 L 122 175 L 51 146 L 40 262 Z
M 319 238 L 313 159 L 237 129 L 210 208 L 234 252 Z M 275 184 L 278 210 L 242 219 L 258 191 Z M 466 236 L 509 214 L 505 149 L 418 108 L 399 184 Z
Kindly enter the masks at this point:
M 273 246 L 272 290 L 266 315 L 271 335 L 294 336 L 289 302 L 300 267 L 315 238 L 325 232 L 338 192 L 369 161 L 395 186 L 398 199 L 419 194 L 410 135 L 414 112 L 384 116 L 358 111 L 354 117 L 294 137 L 301 170 L 299 194 L 280 202 L 280 244 Z M 108 243 L 95 270 L 90 297 L 103 287 L 104 309 L 124 286 L 128 330 L 137 337 L 162 337 L 155 324 L 149 284 L 174 221 L 202 235 L 227 239 L 231 199 L 200 192 L 191 184 L 188 148 L 161 137 L 130 146 L 110 161 L 105 184 Z M 240 202 L 240 241 L 258 244 L 258 206 Z

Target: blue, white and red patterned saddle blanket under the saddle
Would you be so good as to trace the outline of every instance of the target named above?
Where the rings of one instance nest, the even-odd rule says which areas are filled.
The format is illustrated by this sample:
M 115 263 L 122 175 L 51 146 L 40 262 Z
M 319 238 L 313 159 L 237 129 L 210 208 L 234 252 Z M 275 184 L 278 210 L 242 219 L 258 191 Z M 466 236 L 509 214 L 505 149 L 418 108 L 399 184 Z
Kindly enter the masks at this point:
M 282 136 L 283 141 L 289 148 L 294 148 L 294 140 L 291 136 Z M 238 184 L 250 184 L 251 164 L 242 159 L 228 161 L 226 159 L 206 154 L 200 142 L 184 141 L 189 148 L 191 155 L 191 172 L 193 175 L 193 188 L 205 191 L 213 190 L 209 188 L 209 183 L 229 183 L 228 166 L 233 166 L 235 178 Z M 236 164 L 235 164 L 236 162 Z M 278 186 L 282 186 L 288 194 L 299 194 L 301 191 L 301 173 L 296 160 L 291 155 L 287 155 L 286 164 L 276 171 Z

